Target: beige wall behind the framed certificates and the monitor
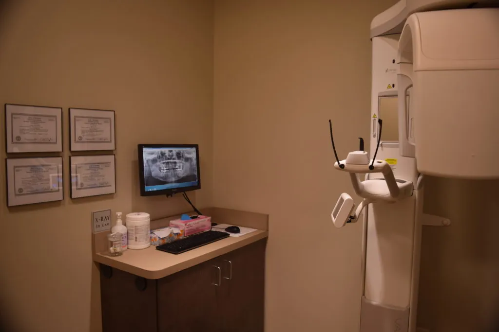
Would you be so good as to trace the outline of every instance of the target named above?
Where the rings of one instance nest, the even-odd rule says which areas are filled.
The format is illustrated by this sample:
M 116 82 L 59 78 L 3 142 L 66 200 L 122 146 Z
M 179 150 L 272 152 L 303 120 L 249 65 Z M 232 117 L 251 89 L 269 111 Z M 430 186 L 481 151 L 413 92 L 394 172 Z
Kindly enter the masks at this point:
M 0 312 L 18 330 L 100 330 L 92 211 L 145 210 L 157 218 L 189 210 L 181 198 L 139 197 L 136 144 L 199 143 L 203 189 L 192 198 L 212 204 L 213 3 L 138 3 L 2 1 L 0 104 L 62 107 L 64 114 L 64 201 L 7 209 L 0 185 Z M 69 198 L 69 107 L 116 111 L 115 195 Z

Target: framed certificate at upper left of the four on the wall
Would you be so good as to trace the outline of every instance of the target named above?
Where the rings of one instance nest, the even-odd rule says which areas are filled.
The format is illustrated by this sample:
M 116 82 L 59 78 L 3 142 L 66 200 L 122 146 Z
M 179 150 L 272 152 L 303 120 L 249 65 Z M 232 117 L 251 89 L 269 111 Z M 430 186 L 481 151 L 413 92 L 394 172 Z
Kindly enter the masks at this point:
M 62 109 L 5 104 L 5 150 L 62 152 Z

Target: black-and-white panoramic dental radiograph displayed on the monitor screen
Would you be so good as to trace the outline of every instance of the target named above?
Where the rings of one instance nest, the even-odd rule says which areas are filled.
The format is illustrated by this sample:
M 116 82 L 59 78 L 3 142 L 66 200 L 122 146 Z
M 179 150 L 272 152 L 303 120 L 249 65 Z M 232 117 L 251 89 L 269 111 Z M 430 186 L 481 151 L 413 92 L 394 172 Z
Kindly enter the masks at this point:
M 195 149 L 157 149 L 144 155 L 146 185 L 197 181 Z

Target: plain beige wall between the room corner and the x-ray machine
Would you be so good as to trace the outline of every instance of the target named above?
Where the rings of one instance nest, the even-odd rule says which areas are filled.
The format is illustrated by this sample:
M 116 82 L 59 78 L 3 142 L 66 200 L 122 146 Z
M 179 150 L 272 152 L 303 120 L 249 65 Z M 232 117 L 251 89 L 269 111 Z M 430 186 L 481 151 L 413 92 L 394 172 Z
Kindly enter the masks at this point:
M 218 0 L 214 201 L 268 213 L 266 331 L 354 332 L 361 225 L 329 215 L 369 136 L 371 19 L 395 1 Z

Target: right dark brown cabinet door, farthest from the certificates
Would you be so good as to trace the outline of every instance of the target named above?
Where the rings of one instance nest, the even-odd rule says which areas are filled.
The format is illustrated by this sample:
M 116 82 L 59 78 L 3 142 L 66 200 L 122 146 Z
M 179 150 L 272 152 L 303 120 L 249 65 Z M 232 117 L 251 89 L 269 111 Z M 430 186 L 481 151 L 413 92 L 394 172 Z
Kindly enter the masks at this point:
M 263 239 L 219 258 L 223 332 L 263 332 L 265 244 Z

